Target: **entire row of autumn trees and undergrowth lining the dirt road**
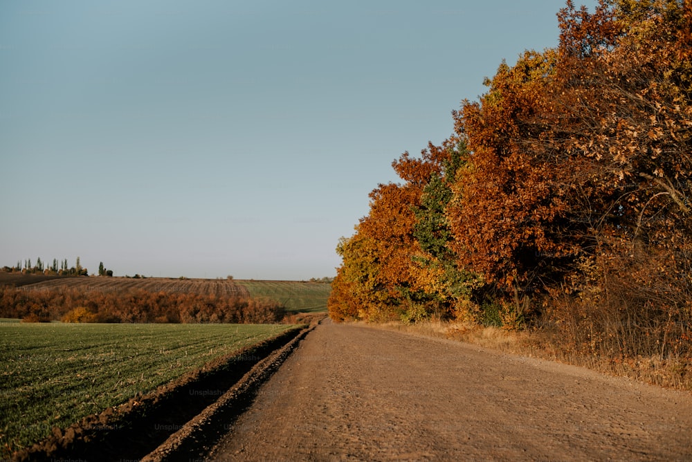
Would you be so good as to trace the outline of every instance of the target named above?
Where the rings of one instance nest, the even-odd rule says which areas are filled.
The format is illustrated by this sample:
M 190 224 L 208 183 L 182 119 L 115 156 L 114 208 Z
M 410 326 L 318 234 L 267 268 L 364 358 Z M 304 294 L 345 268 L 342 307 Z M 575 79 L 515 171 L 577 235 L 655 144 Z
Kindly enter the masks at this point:
M 568 1 L 558 24 L 392 163 L 338 243 L 329 314 L 498 329 L 692 389 L 692 9 Z

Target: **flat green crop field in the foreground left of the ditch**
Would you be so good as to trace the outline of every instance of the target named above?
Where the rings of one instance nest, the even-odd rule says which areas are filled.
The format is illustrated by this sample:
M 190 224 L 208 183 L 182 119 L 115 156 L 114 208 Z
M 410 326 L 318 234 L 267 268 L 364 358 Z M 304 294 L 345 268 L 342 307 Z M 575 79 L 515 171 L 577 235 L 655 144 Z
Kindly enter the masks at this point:
M 293 329 L 275 324 L 0 322 L 0 456 Z

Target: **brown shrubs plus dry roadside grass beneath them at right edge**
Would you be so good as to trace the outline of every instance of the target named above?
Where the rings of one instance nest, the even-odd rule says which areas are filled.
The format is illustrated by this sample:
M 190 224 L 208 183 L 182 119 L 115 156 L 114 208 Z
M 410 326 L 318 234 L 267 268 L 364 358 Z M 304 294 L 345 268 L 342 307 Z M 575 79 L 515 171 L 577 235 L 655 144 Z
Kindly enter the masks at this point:
M 583 261 L 570 290 L 553 290 L 533 341 L 558 360 L 692 389 L 692 281 L 675 252 Z

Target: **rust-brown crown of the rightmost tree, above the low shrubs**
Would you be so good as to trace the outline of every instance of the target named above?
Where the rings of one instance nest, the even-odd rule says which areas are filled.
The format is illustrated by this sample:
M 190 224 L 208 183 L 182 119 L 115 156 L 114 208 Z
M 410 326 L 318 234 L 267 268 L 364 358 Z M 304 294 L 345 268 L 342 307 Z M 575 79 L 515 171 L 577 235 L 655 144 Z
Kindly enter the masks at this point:
M 591 212 L 599 235 L 629 246 L 675 246 L 671 238 L 689 230 L 690 18 L 689 6 L 654 0 L 603 2 L 594 15 L 568 4 L 560 15 L 544 140 L 561 162 L 579 159 L 573 172 L 588 178 L 587 199 L 608 198 Z

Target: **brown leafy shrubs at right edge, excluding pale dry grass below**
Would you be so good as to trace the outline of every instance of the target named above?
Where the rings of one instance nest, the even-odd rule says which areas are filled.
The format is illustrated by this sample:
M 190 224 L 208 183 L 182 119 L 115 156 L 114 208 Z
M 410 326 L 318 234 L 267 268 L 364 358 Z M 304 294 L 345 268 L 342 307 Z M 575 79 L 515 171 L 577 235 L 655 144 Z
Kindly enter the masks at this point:
M 692 358 L 692 284 L 675 261 L 648 255 L 597 263 L 597 279 L 575 293 L 554 292 L 543 320 L 554 341 L 605 358 Z

